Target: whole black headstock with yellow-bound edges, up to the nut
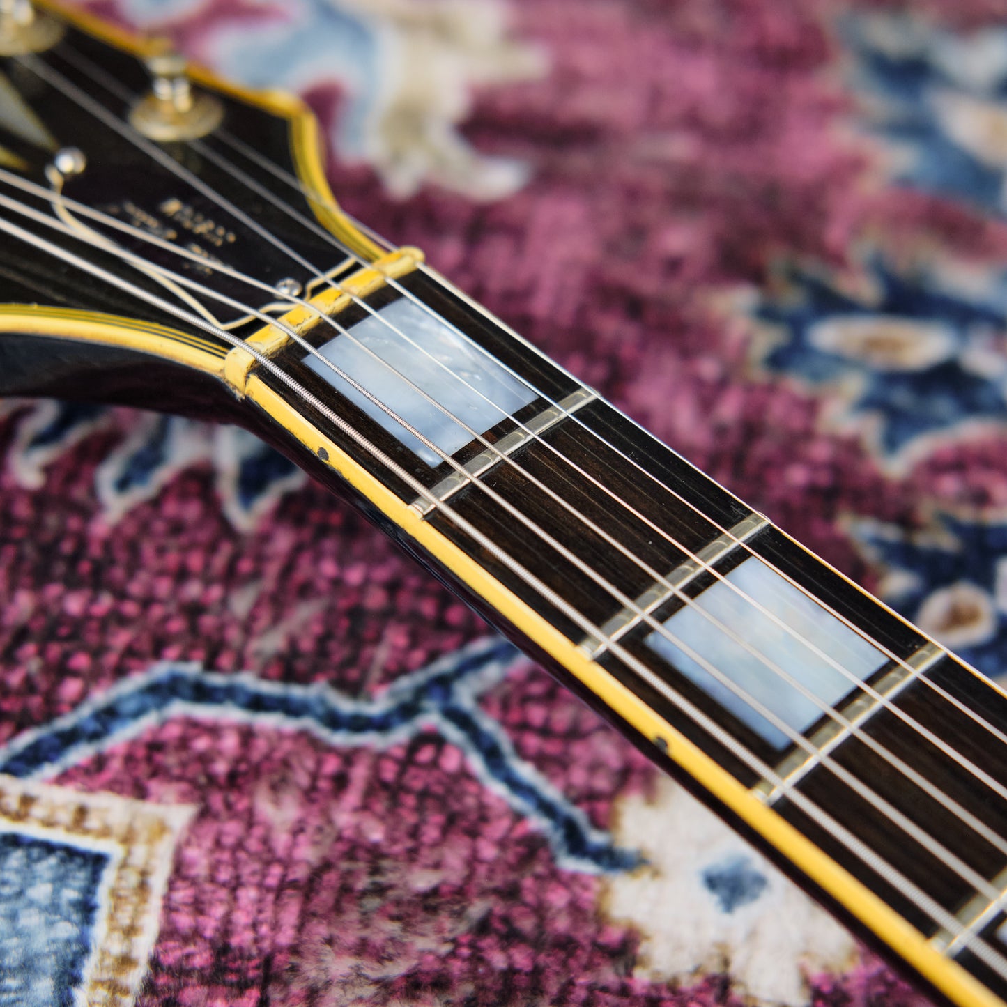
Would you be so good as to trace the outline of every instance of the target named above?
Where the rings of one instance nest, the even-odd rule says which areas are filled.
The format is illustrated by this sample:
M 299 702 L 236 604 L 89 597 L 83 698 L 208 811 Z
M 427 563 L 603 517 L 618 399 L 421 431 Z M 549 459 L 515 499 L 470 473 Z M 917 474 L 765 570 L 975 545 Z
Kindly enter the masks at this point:
M 298 100 L 44 0 L 0 0 L 0 395 L 187 412 L 236 339 L 387 255 Z

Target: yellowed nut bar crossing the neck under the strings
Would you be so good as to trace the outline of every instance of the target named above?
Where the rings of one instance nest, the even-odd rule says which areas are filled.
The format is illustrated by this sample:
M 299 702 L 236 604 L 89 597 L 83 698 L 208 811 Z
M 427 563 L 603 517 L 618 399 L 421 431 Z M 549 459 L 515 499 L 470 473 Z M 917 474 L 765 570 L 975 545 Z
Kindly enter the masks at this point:
M 340 280 L 338 284 L 326 287 L 317 297 L 307 303 L 310 308 L 298 304 L 279 320 L 287 328 L 293 329 L 298 335 L 314 328 L 323 317 L 331 317 L 353 303 L 357 297 L 367 297 L 380 290 L 390 279 L 397 280 L 407 273 L 413 272 L 423 262 L 423 253 L 416 248 L 401 248 L 389 252 L 377 262 L 364 269 L 358 269 L 352 275 Z M 276 325 L 267 325 L 245 340 L 264 356 L 278 353 L 291 341 L 283 329 Z M 235 346 L 228 353 L 224 365 L 224 377 L 239 397 L 245 395 L 249 375 L 258 359 L 242 346 Z

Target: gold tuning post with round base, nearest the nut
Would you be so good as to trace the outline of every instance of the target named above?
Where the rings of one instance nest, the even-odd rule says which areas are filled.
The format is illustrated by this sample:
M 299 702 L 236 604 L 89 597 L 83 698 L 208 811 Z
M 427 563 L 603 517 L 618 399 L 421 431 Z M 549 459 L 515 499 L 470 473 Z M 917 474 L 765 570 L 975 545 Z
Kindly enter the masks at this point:
M 212 95 L 192 88 L 182 56 L 172 52 L 152 56 L 147 69 L 150 92 L 129 115 L 138 133 L 158 143 L 183 142 L 207 136 L 221 125 L 224 105 Z

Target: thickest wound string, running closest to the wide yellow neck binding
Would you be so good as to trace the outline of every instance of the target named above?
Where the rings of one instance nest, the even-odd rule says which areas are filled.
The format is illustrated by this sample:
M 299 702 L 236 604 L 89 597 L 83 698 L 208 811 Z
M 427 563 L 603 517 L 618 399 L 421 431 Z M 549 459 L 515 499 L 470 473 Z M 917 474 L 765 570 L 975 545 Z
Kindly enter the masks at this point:
M 505 565 L 509 567 L 509 569 L 512 569 L 519 576 L 521 576 L 522 579 L 525 579 L 527 583 L 535 587 L 535 589 L 542 594 L 543 597 L 549 600 L 552 604 L 556 605 L 575 623 L 579 624 L 585 632 L 596 636 L 597 638 L 607 638 L 604 632 L 597 626 L 594 626 L 591 621 L 583 616 L 575 606 L 567 603 L 565 599 L 549 588 L 548 585 L 541 582 L 539 578 L 535 577 L 534 574 L 531 574 L 530 571 L 526 570 L 518 561 L 510 557 L 502 549 L 495 546 L 491 539 L 479 532 L 479 530 L 474 526 L 471 526 L 469 522 L 454 512 L 452 508 L 443 501 L 438 500 L 418 479 L 403 469 L 400 465 L 398 465 L 398 463 L 394 462 L 375 445 L 371 444 L 367 438 L 355 431 L 350 424 L 342 421 L 340 417 L 328 409 L 306 389 L 300 386 L 296 380 L 287 375 L 282 368 L 279 368 L 265 354 L 252 349 L 243 340 L 213 326 L 211 323 L 206 322 L 199 316 L 187 312 L 184 308 L 179 308 L 176 305 L 170 304 L 162 298 L 151 294 L 149 291 L 136 287 L 135 285 L 129 283 L 129 281 L 125 281 L 122 278 L 109 273 L 101 266 L 82 260 L 80 257 L 68 252 L 68 250 L 51 245 L 44 239 L 40 239 L 37 236 L 30 234 L 16 225 L 12 225 L 8 221 L 0 219 L 0 230 L 5 231 L 12 237 L 24 241 L 27 244 L 56 257 L 57 259 L 61 259 L 63 262 L 82 269 L 90 275 L 103 279 L 105 282 L 130 293 L 132 296 L 137 297 L 146 303 L 158 307 L 162 311 L 166 311 L 175 317 L 181 318 L 190 325 L 207 331 L 232 345 L 240 346 L 241 348 L 249 351 L 252 355 L 257 357 L 262 367 L 274 373 L 279 380 L 287 384 L 288 387 L 295 392 L 295 394 L 300 395 L 306 402 L 312 405 L 313 408 L 317 409 L 322 415 L 325 415 L 337 429 L 340 429 L 346 436 L 349 436 L 357 444 L 364 447 L 365 450 L 369 450 L 383 465 L 389 468 L 390 471 L 398 475 L 400 478 L 403 478 L 407 484 L 411 484 L 411 488 L 415 492 L 419 495 L 425 496 L 425 498 L 427 498 L 433 507 L 438 508 L 445 513 L 452 521 L 455 522 L 456 525 L 458 525 L 459 528 L 465 531 L 466 534 L 478 541 L 483 548 L 486 548 L 492 555 L 495 555 L 500 562 L 505 563 Z M 633 668 L 633 670 L 636 671 L 636 673 L 642 677 L 644 681 L 648 681 L 649 684 L 652 685 L 652 688 L 657 689 L 659 693 L 666 696 L 666 698 L 670 699 L 675 705 L 679 706 L 683 712 L 685 712 L 688 716 L 691 716 L 694 721 L 704 727 L 704 729 L 711 733 L 718 741 L 720 741 L 721 744 L 724 744 L 728 750 L 732 751 L 735 755 L 749 764 L 764 778 L 774 782 L 774 785 L 778 786 L 782 784 L 782 780 L 767 763 L 764 763 L 760 758 L 758 758 L 757 755 L 746 749 L 740 742 L 737 742 L 732 735 L 720 728 L 716 722 L 712 721 L 708 716 L 703 714 L 702 711 L 696 709 L 693 704 L 678 694 L 678 692 L 669 686 L 668 683 L 651 672 L 645 665 L 638 662 L 631 654 L 626 652 L 622 645 L 618 643 L 618 641 L 608 638 L 608 643 L 612 653 L 619 656 L 620 660 L 623 660 L 628 667 Z M 685 644 L 684 641 L 678 641 L 677 645 L 680 645 L 684 653 L 692 657 L 692 659 L 698 664 L 704 666 L 710 674 L 715 677 L 720 675 L 716 668 L 706 662 L 701 655 L 692 652 L 691 648 L 689 648 L 688 644 Z M 724 679 L 724 684 L 728 688 L 733 688 L 739 695 L 743 693 L 743 690 L 739 690 L 738 687 L 735 687 L 729 680 Z M 767 718 L 776 719 L 781 730 L 789 730 L 788 725 L 783 723 L 783 721 L 778 718 L 775 718 L 775 715 L 772 714 L 771 711 L 765 710 L 764 713 Z M 799 737 L 799 740 L 806 739 L 800 739 Z M 790 800 L 795 805 L 803 808 L 810 816 L 818 819 L 820 822 L 824 822 L 830 828 L 832 834 L 839 838 L 844 845 L 846 845 L 847 848 L 854 853 L 854 855 L 856 855 L 859 859 L 864 860 L 864 862 L 867 863 L 872 870 L 875 870 L 880 874 L 880 876 L 888 880 L 889 883 L 892 883 L 894 887 L 900 890 L 903 895 L 916 904 L 921 911 L 929 915 L 939 926 L 942 926 L 944 929 L 960 938 L 963 944 L 970 948 L 970 950 L 972 950 L 977 957 L 979 957 L 995 971 L 1007 976 L 1007 960 L 1004 960 L 1003 957 L 995 949 L 990 947 L 983 939 L 970 933 L 967 927 L 963 926 L 963 924 L 954 915 L 941 906 L 940 903 L 938 903 L 932 897 L 921 891 L 913 882 L 905 878 L 904 875 L 902 875 L 896 868 L 888 864 L 883 857 L 876 854 L 873 850 L 867 847 L 866 844 L 849 833 L 849 830 L 836 822 L 832 816 L 824 812 L 813 801 L 800 794 L 800 792 L 794 792 L 790 795 Z

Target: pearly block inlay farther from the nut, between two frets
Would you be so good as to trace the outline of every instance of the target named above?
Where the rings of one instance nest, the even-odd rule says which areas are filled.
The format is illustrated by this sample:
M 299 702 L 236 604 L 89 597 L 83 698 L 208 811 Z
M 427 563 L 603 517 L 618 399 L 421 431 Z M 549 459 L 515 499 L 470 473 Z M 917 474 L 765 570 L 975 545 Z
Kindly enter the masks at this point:
M 825 706 L 835 707 L 853 691 L 852 679 L 866 681 L 887 660 L 873 643 L 754 556 L 723 580 L 715 581 L 664 625 L 668 635 L 655 630 L 648 636 L 648 644 L 780 750 L 792 738 L 753 709 L 749 697 L 797 733 L 807 731 L 823 710 L 776 669 L 800 682 Z M 721 626 L 727 626 L 744 643 Z M 743 691 L 742 695 L 716 679 L 679 643 L 717 669 Z

